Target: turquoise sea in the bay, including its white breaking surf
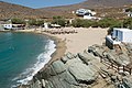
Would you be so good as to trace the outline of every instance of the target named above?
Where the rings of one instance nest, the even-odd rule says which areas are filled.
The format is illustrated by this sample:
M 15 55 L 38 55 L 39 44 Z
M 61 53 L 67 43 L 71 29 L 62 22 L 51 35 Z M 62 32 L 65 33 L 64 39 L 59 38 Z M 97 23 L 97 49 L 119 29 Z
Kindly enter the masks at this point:
M 56 51 L 46 35 L 35 33 L 0 33 L 0 88 L 28 84 Z

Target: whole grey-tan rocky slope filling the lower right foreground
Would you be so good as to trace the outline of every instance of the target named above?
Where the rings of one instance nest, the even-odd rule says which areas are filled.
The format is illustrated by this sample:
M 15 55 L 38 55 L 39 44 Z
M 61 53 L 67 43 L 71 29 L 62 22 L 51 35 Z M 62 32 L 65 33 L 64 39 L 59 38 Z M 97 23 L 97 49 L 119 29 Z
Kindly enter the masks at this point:
M 65 54 L 19 88 L 132 88 L 131 72 L 121 68 L 131 65 L 131 54 L 132 44 L 116 50 L 92 45 L 82 53 Z

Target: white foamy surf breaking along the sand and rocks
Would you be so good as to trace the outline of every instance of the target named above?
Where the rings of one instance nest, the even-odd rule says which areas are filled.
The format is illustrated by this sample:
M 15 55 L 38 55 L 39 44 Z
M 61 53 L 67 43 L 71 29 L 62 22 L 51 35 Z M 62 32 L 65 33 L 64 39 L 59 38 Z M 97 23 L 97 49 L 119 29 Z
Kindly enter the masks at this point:
M 46 51 L 37 56 L 37 62 L 34 66 L 26 68 L 24 73 L 13 79 L 13 81 L 16 81 L 15 86 L 20 84 L 26 85 L 30 80 L 32 80 L 33 76 L 50 62 L 52 54 L 56 51 L 54 41 L 48 40 L 48 44 L 44 47 Z M 13 85 L 12 88 L 15 88 L 15 86 Z

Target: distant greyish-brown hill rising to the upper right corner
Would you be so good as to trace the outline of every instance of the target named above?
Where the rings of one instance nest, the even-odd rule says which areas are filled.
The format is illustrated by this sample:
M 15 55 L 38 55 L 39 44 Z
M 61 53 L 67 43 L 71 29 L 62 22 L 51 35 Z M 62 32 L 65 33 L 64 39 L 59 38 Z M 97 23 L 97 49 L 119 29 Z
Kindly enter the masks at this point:
M 120 8 L 123 6 L 132 4 L 132 0 L 86 0 L 84 2 L 70 6 L 61 6 L 61 7 L 50 7 L 50 8 L 41 8 L 42 11 L 72 11 L 77 10 L 79 8 Z

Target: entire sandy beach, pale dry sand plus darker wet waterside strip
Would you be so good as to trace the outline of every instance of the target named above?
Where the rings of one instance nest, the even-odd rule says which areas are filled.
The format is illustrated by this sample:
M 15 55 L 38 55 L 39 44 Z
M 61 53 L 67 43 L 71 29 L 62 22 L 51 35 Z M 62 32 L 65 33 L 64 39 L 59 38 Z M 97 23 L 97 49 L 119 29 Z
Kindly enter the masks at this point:
M 89 45 L 92 44 L 100 44 L 102 43 L 103 37 L 106 36 L 107 29 L 85 29 L 85 28 L 65 28 L 65 30 L 76 30 L 78 33 L 76 34 L 50 34 L 46 32 L 41 32 L 41 30 L 22 30 L 22 31 L 14 31 L 15 33 L 34 33 L 34 34 L 42 34 L 50 37 L 50 40 L 54 41 L 56 51 L 51 55 L 51 59 L 46 63 L 41 70 L 38 70 L 33 78 L 28 82 L 32 82 L 35 77 L 45 68 L 51 65 L 53 62 L 61 59 L 66 53 L 78 53 L 86 50 Z M 101 35 L 100 35 L 101 34 Z M 20 85 L 20 88 L 23 85 Z

